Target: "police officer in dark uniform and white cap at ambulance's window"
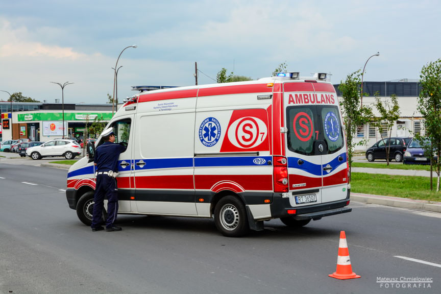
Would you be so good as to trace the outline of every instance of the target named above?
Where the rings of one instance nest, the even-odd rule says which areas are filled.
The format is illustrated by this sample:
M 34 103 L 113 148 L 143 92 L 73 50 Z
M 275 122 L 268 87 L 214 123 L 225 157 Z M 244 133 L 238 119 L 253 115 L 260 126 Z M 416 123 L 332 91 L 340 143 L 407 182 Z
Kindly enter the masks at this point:
M 92 231 L 104 230 L 102 215 L 104 198 L 107 196 L 107 220 L 106 231 L 121 231 L 120 227 L 114 225 L 118 213 L 118 188 L 116 176 L 118 175 L 118 157 L 126 150 L 125 146 L 115 144 L 115 133 L 109 128 L 101 133 L 104 143 L 95 150 L 94 163 L 96 165 L 96 186 L 93 201 Z

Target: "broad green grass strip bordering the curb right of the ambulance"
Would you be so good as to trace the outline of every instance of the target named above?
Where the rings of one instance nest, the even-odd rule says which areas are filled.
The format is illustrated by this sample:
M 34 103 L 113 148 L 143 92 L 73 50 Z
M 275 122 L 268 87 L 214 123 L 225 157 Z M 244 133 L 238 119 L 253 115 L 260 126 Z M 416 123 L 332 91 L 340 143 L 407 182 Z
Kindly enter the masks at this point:
M 436 177 L 430 190 L 429 177 L 352 173 L 351 192 L 441 202 Z

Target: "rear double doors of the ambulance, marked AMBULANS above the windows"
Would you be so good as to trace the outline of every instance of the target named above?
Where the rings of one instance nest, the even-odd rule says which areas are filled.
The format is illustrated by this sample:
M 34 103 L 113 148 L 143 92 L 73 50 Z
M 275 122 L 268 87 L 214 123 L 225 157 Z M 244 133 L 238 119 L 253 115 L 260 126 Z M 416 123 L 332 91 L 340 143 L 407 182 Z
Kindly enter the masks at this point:
M 346 146 L 333 86 L 285 83 L 284 109 L 291 205 L 345 199 Z

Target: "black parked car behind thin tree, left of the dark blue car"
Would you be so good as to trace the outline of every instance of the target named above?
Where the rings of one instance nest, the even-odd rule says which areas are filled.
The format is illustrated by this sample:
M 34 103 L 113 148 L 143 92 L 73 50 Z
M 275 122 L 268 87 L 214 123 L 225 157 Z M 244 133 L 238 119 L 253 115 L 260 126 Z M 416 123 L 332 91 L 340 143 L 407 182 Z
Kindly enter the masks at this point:
M 404 152 L 412 138 L 390 137 L 384 138 L 366 150 L 366 158 L 369 161 L 376 159 L 386 159 L 386 148 L 389 147 L 389 160 L 395 159 L 397 162 L 403 161 Z

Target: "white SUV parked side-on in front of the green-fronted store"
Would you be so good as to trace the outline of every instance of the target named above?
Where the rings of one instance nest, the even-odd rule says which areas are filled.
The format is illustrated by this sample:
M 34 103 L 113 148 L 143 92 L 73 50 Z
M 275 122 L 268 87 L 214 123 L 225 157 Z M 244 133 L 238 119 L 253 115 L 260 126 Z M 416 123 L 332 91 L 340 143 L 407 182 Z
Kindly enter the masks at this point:
M 26 156 L 32 159 L 42 157 L 64 156 L 66 159 L 74 159 L 81 154 L 81 147 L 74 140 L 57 139 L 47 141 L 39 146 L 34 146 L 26 150 Z

